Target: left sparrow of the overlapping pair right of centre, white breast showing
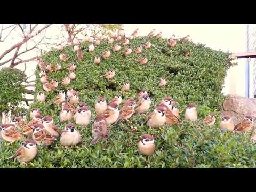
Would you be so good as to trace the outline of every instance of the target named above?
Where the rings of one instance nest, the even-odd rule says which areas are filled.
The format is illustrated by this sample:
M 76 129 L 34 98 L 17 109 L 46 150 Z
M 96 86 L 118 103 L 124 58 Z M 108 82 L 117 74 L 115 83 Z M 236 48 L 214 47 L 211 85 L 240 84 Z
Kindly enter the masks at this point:
M 166 109 L 163 107 L 156 107 L 154 111 L 148 116 L 146 124 L 149 127 L 159 127 L 165 123 Z

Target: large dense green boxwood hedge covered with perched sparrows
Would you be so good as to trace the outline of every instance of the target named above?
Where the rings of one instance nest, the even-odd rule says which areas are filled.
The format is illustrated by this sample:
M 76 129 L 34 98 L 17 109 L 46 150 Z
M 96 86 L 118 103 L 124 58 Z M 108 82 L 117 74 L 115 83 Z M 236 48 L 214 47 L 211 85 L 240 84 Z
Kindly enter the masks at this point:
M 135 50 L 147 41 L 153 44 L 150 49 L 126 57 L 122 55 L 126 49 L 123 45 L 121 51 L 113 52 L 114 44 L 108 44 L 105 40 L 95 47 L 94 52 L 87 52 L 89 43 L 83 43 L 81 48 L 84 58 L 81 62 L 77 62 L 72 46 L 63 49 L 70 59 L 62 62 L 62 69 L 51 73 L 50 79 L 61 82 L 63 77 L 68 76 L 66 66 L 71 61 L 76 63 L 77 79 L 71 81 L 70 86 L 79 92 L 80 101 L 90 106 L 91 123 L 87 127 L 77 126 L 82 134 L 81 145 L 65 149 L 58 140 L 50 148 L 39 148 L 37 157 L 28 164 L 29 167 L 255 167 L 256 148 L 249 141 L 250 133 L 222 133 L 219 129 L 219 111 L 225 99 L 221 90 L 226 71 L 232 65 L 230 54 L 193 42 L 177 43 L 174 48 L 170 48 L 167 47 L 167 39 L 155 37 L 134 38 L 130 40 L 130 46 Z M 102 59 L 100 65 L 94 65 L 94 57 L 107 50 L 111 51 L 110 58 Z M 60 53 L 52 50 L 44 53 L 42 58 L 45 63 L 56 65 L 60 61 Z M 137 62 L 142 57 L 148 58 L 145 66 Z M 111 68 L 115 69 L 116 76 L 108 81 L 102 75 Z M 39 68 L 36 76 L 35 97 L 43 90 L 39 81 Z M 161 77 L 167 79 L 167 85 L 163 88 L 157 86 Z M 120 88 L 126 81 L 130 82 L 131 89 L 122 93 Z M 59 84 L 58 90 L 67 87 Z M 118 93 L 123 95 L 124 100 L 136 98 L 141 89 L 146 89 L 152 100 L 147 114 L 163 97 L 169 96 L 177 102 L 183 124 L 150 130 L 144 124 L 146 115 L 134 115 L 130 119 L 131 126 L 119 122 L 111 127 L 107 141 L 101 140 L 93 145 L 91 127 L 95 118 L 95 100 L 103 95 L 109 101 Z M 37 107 L 44 116 L 52 116 L 62 130 L 66 123 L 59 121 L 61 108 L 52 104 L 57 94 L 57 91 L 49 92 L 47 102 L 34 102 L 30 107 Z M 190 102 L 196 103 L 198 111 L 198 121 L 193 123 L 183 120 L 186 106 Z M 211 112 L 217 115 L 215 125 L 203 127 L 200 122 Z M 134 132 L 135 128 L 137 132 Z M 151 157 L 142 156 L 137 150 L 139 137 L 144 133 L 155 137 L 156 150 Z M 8 146 L 6 142 L 1 142 L 1 167 L 24 166 L 16 160 L 2 161 L 15 153 L 20 143 L 18 141 Z

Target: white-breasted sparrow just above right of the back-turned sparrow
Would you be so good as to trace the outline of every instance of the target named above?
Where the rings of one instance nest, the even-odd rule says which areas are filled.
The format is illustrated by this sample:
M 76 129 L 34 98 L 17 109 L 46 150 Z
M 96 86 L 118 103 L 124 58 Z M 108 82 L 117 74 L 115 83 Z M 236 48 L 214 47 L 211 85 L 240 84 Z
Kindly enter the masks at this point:
M 108 124 L 113 124 L 119 117 L 118 105 L 116 102 L 111 102 L 108 105 L 107 110 L 105 110 L 102 115 L 106 118 Z

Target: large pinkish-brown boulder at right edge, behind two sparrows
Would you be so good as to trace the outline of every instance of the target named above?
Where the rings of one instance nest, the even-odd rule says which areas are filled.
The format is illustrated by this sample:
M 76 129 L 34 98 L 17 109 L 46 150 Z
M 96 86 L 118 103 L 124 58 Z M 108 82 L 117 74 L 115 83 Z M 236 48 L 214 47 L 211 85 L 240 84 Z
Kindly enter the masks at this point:
M 230 115 L 234 123 L 241 122 L 247 114 L 253 116 L 253 124 L 256 125 L 256 99 L 244 98 L 235 94 L 228 95 L 222 104 L 221 115 Z

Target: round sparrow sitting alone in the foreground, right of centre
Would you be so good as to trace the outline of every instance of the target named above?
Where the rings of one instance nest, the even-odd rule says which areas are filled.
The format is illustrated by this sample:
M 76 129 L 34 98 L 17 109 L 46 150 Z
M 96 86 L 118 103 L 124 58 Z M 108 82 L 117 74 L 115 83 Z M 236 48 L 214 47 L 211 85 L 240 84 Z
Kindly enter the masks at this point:
M 155 151 L 154 138 L 149 134 L 143 134 L 138 142 L 138 151 L 142 155 L 152 155 Z

